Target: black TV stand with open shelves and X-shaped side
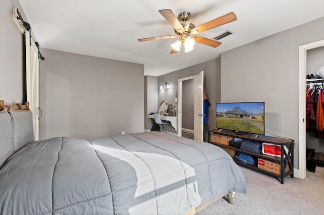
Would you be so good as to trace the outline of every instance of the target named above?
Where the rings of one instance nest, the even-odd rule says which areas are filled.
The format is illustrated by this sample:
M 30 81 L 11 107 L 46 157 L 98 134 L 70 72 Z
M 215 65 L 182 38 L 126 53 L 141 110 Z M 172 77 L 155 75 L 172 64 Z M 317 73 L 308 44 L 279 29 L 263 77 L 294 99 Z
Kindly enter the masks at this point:
M 225 145 L 222 143 L 213 142 L 213 141 L 209 140 L 209 143 L 212 143 L 212 144 L 220 146 L 222 148 L 234 151 L 234 154 L 236 154 L 237 152 L 242 152 L 242 153 L 253 155 L 256 158 L 264 158 L 266 160 L 269 160 L 270 162 L 279 163 L 281 170 L 280 170 L 279 175 L 275 174 L 275 173 L 271 173 L 266 170 L 259 169 L 258 165 L 250 165 L 250 164 L 241 162 L 240 160 L 236 159 L 232 155 L 234 162 L 238 165 L 268 174 L 270 176 L 273 176 L 273 177 L 277 178 L 281 184 L 284 184 L 284 178 L 286 176 L 290 175 L 292 178 L 294 178 L 294 144 L 295 144 L 294 140 L 286 139 L 286 138 L 279 138 L 279 137 L 270 137 L 270 136 L 264 136 L 264 135 L 249 134 L 249 133 L 239 133 L 238 134 L 236 132 L 221 130 L 218 128 L 211 129 L 210 133 L 211 133 L 211 135 L 218 134 L 218 135 L 223 135 L 223 136 L 227 136 L 227 137 L 237 137 L 237 138 L 241 138 L 244 140 L 252 140 L 252 141 L 259 142 L 261 144 L 263 142 L 267 142 L 267 143 L 273 143 L 276 145 L 280 145 L 281 146 L 281 156 L 276 157 L 276 156 L 266 155 L 266 154 L 262 154 L 262 153 L 261 154 L 252 153 L 249 151 L 241 150 L 240 148 L 237 148 L 234 146 Z M 284 146 L 286 146 L 288 148 L 288 153 L 286 153 Z M 286 157 L 289 157 L 289 159 L 286 159 Z M 288 171 L 286 171 L 286 168 L 288 168 Z

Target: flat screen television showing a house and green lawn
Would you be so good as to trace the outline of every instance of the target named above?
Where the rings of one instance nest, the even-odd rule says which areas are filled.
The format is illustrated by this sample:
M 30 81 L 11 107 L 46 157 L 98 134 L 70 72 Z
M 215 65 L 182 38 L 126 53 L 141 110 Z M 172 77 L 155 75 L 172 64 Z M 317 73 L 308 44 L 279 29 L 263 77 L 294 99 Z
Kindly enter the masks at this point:
M 264 102 L 216 103 L 216 128 L 264 135 Z

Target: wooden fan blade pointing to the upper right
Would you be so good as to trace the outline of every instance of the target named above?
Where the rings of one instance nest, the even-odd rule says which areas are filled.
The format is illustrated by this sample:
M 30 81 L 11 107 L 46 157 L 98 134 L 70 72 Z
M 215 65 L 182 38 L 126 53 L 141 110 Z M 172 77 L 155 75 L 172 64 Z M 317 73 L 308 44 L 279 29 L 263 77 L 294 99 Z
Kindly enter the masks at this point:
M 209 29 L 216 28 L 218 26 L 233 22 L 236 19 L 237 19 L 236 15 L 233 12 L 231 12 L 224 16 L 218 17 L 212 21 L 206 22 L 202 25 L 195 27 L 194 29 L 191 30 L 191 33 L 197 34 L 203 31 L 207 31 Z

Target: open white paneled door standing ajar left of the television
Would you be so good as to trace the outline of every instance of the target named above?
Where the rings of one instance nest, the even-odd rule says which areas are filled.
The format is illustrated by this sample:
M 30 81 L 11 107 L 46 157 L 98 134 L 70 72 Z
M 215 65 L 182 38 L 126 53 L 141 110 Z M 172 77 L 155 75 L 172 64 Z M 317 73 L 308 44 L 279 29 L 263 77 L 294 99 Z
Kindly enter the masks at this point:
M 204 140 L 204 71 L 194 77 L 194 139 Z

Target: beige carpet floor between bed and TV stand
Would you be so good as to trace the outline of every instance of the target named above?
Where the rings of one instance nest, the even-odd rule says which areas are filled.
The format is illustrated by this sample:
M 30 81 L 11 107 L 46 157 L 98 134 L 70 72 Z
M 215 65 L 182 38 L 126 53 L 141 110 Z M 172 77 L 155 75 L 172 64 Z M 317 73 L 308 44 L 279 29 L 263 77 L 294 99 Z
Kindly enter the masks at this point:
M 197 214 L 324 214 L 324 168 L 307 171 L 304 180 L 287 176 L 284 184 L 245 167 L 241 170 L 247 193 L 235 193 L 233 204 L 222 198 Z

